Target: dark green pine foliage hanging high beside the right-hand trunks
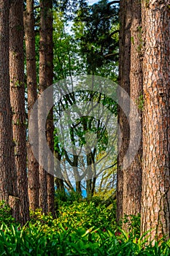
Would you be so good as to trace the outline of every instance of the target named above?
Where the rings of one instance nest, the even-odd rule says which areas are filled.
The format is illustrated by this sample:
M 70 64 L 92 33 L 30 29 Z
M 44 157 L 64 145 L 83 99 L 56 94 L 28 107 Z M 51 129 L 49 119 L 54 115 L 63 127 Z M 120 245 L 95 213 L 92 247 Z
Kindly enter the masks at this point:
M 80 43 L 81 56 L 85 56 L 87 72 L 106 76 L 109 66 L 117 65 L 118 8 L 107 0 L 92 6 L 82 6 L 77 11 L 72 31 Z M 114 74 L 109 70 L 110 73 Z M 109 75 L 110 77 L 110 75 Z

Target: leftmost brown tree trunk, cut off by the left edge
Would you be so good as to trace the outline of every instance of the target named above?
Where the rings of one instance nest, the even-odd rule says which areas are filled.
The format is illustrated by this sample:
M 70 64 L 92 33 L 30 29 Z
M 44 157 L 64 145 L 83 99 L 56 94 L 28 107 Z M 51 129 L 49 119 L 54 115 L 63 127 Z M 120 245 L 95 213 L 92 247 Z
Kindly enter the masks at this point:
M 12 114 L 9 98 L 9 1 L 0 1 L 0 200 L 12 193 Z M 12 195 L 12 194 L 11 194 Z

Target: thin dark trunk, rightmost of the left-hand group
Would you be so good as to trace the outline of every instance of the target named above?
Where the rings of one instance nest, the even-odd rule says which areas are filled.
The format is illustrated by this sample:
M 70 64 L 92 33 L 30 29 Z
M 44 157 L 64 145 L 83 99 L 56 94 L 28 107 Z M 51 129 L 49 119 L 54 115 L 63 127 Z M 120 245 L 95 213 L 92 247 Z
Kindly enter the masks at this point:
M 47 1 L 47 87 L 53 84 L 53 0 Z M 53 101 L 53 94 L 50 95 L 51 101 Z M 47 117 L 47 143 L 50 150 L 54 151 L 54 124 L 53 124 L 53 108 Z M 54 162 L 51 157 L 48 157 L 48 169 L 47 173 L 47 205 L 48 211 L 55 216 L 55 204 L 54 204 Z

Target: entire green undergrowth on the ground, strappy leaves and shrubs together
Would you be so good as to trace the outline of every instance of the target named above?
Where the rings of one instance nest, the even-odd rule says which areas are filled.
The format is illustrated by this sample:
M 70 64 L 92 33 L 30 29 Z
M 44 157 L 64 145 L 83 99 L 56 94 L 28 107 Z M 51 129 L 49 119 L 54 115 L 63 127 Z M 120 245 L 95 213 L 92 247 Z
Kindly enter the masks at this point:
M 0 228 L 0 255 L 170 255 L 169 242 L 147 244 L 135 230 L 139 221 L 134 217 L 133 228 L 125 233 L 116 226 L 115 213 L 100 203 L 62 203 L 57 214 L 53 219 L 50 214 L 31 212 L 31 221 L 20 228 L 9 225 L 11 217 L 6 211 L 6 224 Z

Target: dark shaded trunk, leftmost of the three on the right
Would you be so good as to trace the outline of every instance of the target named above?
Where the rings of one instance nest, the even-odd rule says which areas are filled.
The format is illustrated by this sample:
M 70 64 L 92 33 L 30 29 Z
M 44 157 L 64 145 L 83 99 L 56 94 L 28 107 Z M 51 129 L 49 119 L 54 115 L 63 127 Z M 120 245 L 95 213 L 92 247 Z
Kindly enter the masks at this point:
M 119 85 L 130 94 L 130 67 L 131 67 L 131 2 L 120 1 L 120 56 L 119 56 Z M 130 106 L 127 105 L 118 91 L 119 105 L 125 105 L 127 111 Z M 117 222 L 123 217 L 123 158 L 128 149 L 129 144 L 129 124 L 123 113 L 118 107 L 117 111 L 118 124 L 120 131 L 118 134 L 118 157 L 117 157 Z

